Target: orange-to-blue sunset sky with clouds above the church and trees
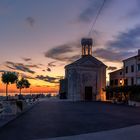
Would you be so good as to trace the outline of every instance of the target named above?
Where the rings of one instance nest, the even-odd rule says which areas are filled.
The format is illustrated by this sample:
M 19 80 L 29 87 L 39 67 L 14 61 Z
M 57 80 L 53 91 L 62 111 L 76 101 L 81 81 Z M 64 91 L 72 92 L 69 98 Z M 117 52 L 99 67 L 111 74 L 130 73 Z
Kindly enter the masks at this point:
M 28 78 L 24 92 L 58 92 L 64 66 L 80 58 L 103 0 L 0 0 L 0 72 Z M 140 1 L 106 0 L 91 37 L 93 56 L 120 68 L 140 48 Z M 0 82 L 0 92 L 4 92 Z M 10 85 L 10 92 L 15 92 Z

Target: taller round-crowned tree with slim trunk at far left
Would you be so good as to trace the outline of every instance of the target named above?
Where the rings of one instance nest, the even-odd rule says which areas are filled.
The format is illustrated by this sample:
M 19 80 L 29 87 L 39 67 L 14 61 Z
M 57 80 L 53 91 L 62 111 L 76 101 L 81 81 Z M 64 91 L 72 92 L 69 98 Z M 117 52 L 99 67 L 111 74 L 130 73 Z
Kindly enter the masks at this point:
M 1 80 L 4 84 L 6 84 L 6 98 L 8 100 L 8 85 L 11 83 L 11 84 L 14 84 L 18 79 L 18 76 L 17 76 L 17 73 L 15 72 L 10 72 L 10 71 L 7 71 L 7 72 L 4 72 L 2 73 L 2 77 L 1 77 Z

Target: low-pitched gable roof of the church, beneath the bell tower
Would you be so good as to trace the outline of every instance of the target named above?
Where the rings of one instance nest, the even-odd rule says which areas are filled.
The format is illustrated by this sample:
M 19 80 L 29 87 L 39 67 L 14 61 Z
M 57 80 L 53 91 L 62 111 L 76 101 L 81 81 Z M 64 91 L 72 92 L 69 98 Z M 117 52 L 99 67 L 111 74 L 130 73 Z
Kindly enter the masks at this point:
M 87 56 L 83 56 L 81 57 L 80 59 L 74 61 L 73 63 L 71 64 L 68 64 L 65 66 L 65 68 L 67 67 L 71 67 L 71 66 L 105 66 L 106 65 L 101 62 L 100 60 L 98 60 L 97 58 L 91 56 L 91 55 L 87 55 Z

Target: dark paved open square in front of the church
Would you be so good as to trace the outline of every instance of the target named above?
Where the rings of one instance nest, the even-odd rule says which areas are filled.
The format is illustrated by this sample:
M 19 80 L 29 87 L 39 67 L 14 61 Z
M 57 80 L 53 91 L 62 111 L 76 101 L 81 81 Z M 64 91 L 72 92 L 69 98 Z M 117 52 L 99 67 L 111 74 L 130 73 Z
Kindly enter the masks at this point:
M 101 102 L 42 101 L 0 130 L 2 140 L 31 140 L 140 124 L 140 108 Z

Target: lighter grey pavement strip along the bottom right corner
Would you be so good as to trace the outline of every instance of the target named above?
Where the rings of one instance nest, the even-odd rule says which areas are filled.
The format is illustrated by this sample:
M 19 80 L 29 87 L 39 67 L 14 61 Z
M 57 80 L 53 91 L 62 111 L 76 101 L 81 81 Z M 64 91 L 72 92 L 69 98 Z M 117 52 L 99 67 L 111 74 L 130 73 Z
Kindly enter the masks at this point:
M 102 132 L 37 140 L 140 140 L 140 125 Z

